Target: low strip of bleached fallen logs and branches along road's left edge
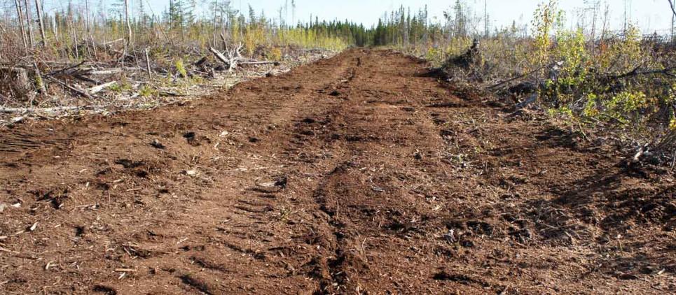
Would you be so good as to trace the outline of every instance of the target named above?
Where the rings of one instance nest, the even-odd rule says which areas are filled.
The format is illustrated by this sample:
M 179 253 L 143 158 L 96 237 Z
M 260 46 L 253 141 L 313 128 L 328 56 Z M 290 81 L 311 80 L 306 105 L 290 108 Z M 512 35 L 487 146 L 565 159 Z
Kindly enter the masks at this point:
M 289 47 L 280 60 L 270 61 L 242 57 L 241 44 L 224 45 L 224 52 L 213 47 L 208 52 L 196 48 L 125 52 L 120 46 L 114 41 L 90 45 L 97 50 L 95 60 L 48 61 L 35 55 L 0 64 L 0 126 L 27 117 L 109 114 L 180 103 L 334 54 Z

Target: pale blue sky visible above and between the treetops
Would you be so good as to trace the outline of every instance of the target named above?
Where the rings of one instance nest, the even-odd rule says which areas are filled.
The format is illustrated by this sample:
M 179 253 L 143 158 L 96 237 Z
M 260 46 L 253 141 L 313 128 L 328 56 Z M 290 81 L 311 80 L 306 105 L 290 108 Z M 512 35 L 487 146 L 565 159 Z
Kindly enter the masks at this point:
M 52 3 L 67 3 L 65 0 L 45 0 L 46 5 Z M 81 0 L 84 1 L 84 0 Z M 97 6 L 100 0 L 89 0 L 90 5 Z M 103 0 L 110 2 L 111 0 Z M 148 1 L 151 3 L 156 13 L 164 10 L 169 5 L 169 0 L 130 0 L 132 7 L 137 7 L 139 1 Z M 195 0 L 198 6 L 204 0 Z M 207 0 L 208 1 L 208 0 Z M 257 13 L 265 10 L 268 17 L 276 17 L 277 10 L 284 5 L 285 0 L 232 0 L 236 9 L 241 8 L 247 12 L 249 4 L 254 7 Z M 289 1 L 289 5 L 291 0 Z M 478 13 L 483 14 L 483 0 L 464 0 L 466 3 L 474 5 Z M 540 0 L 487 0 L 488 13 L 492 20 L 492 27 L 508 26 L 512 20 L 520 23 L 530 23 L 530 19 L 537 3 Z M 593 0 L 592 0 L 593 1 Z M 567 19 L 571 20 L 576 14 L 576 9 L 584 6 L 585 2 L 590 0 L 560 0 L 560 7 L 567 13 Z M 619 29 L 623 24 L 623 13 L 625 0 L 600 0 L 601 3 L 607 3 L 610 7 L 611 27 Z M 671 27 L 671 10 L 667 0 L 627 0 L 630 2 L 630 16 L 634 22 L 640 24 L 645 33 L 658 31 L 660 34 L 667 34 Z M 78 2 L 78 0 L 74 0 Z M 429 13 L 433 17 L 441 18 L 443 10 L 448 9 L 455 0 L 296 0 L 296 20 L 307 21 L 310 15 L 319 16 L 324 20 L 353 20 L 361 22 L 364 25 L 371 26 L 378 22 L 378 17 L 385 11 L 391 11 L 399 6 L 411 7 L 412 10 L 418 10 L 425 5 L 429 8 Z M 291 21 L 291 12 L 289 11 L 289 22 Z

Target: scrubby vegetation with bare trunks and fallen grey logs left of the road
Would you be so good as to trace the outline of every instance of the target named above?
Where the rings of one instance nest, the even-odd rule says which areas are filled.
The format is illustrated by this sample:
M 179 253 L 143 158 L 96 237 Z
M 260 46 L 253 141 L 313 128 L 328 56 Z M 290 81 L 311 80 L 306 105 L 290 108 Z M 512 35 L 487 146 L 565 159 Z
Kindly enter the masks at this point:
M 342 22 L 291 25 L 294 1 L 275 16 L 228 0 L 134 3 L 3 1 L 0 125 L 177 103 L 355 43 Z

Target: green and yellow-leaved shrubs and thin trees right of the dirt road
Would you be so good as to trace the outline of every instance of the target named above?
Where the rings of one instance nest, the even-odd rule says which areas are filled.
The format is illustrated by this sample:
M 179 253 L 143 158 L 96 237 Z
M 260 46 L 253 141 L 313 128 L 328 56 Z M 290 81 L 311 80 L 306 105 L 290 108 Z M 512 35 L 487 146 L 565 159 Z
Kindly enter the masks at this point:
M 673 8 L 672 1 L 663 6 Z M 412 15 L 401 8 L 373 29 L 373 44 L 424 57 L 455 87 L 497 96 L 516 108 L 513 115 L 537 108 L 563 119 L 583 141 L 612 138 L 637 150 L 632 160 L 673 163 L 673 28 L 642 34 L 626 19 L 614 31 L 609 23 L 617 8 L 602 1 L 588 1 L 572 16 L 558 1 L 544 1 L 531 24 L 497 29 L 481 8 L 455 1 L 439 23 L 429 23 L 425 10 Z

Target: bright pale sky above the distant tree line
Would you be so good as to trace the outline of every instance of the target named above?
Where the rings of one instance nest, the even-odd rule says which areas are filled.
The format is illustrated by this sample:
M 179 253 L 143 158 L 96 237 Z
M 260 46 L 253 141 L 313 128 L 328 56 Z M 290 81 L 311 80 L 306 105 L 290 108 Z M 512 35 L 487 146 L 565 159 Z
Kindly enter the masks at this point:
M 85 0 L 77 1 L 75 5 L 83 5 Z M 169 6 L 169 1 L 166 0 L 129 0 L 130 9 L 132 15 L 136 17 L 139 10 L 139 1 L 144 1 L 144 6 L 146 9 L 152 10 L 152 13 L 155 15 L 161 15 Z M 205 7 L 209 1 L 196 0 L 197 3 L 196 15 L 203 15 L 206 11 Z M 422 0 L 422 1 L 413 1 L 413 0 L 389 0 L 389 1 L 357 1 L 357 0 L 343 0 L 340 2 L 336 1 L 309 1 L 309 0 L 296 0 L 296 10 L 292 11 L 291 9 L 291 0 L 232 0 L 231 7 L 235 10 L 238 10 L 243 15 L 247 15 L 247 10 L 251 6 L 257 15 L 260 15 L 261 12 L 265 13 L 267 17 L 278 21 L 279 10 L 284 7 L 285 3 L 288 3 L 288 11 L 284 13 L 284 19 L 289 24 L 296 24 L 301 22 L 303 24 L 308 23 L 310 17 L 314 20 L 315 17 L 319 17 L 319 20 L 333 21 L 350 21 L 357 24 L 364 24 L 364 27 L 370 28 L 378 24 L 378 20 L 385 15 L 385 13 L 390 13 L 393 10 L 399 9 L 401 6 L 410 9 L 411 12 L 417 12 L 418 10 L 425 8 L 427 6 L 429 11 L 429 21 L 430 22 L 442 22 L 443 21 L 443 12 L 445 10 L 450 10 L 455 1 L 442 1 L 442 0 Z M 470 7 L 474 8 L 474 13 L 476 17 L 482 19 L 483 22 L 483 13 L 484 13 L 484 1 L 481 0 L 468 0 L 463 1 L 468 4 Z M 565 11 L 566 15 L 566 26 L 570 28 L 576 27 L 576 24 L 581 20 L 581 13 L 584 13 L 586 20 L 591 22 L 592 12 L 590 9 L 591 4 L 595 1 L 589 0 L 573 0 L 573 1 L 560 1 L 559 8 Z M 626 12 L 627 19 L 629 22 L 637 24 L 641 29 L 643 34 L 653 34 L 654 32 L 658 34 L 670 34 L 672 28 L 672 18 L 671 11 L 668 7 L 668 2 L 666 0 L 645 0 L 640 1 L 632 0 L 607 0 L 599 1 L 600 3 L 600 12 L 597 18 L 597 26 L 600 27 L 599 22 L 602 21 L 602 13 L 605 9 L 605 4 L 609 7 L 609 29 L 619 30 L 623 28 L 624 17 L 625 17 L 625 3 L 627 4 Z M 64 9 L 65 1 L 58 0 L 48 0 L 44 1 L 44 6 L 46 7 L 46 13 L 53 13 L 55 10 Z M 89 3 L 90 9 L 95 10 L 99 9 L 99 5 L 104 3 L 104 11 L 109 13 L 111 8 L 111 3 L 113 1 L 102 1 L 99 3 Z M 486 6 L 488 13 L 488 18 L 490 20 L 490 30 L 495 31 L 495 29 L 500 29 L 503 27 L 509 27 L 513 22 L 520 25 L 529 25 L 532 20 L 532 15 L 537 8 L 538 3 L 542 1 L 534 0 L 514 0 L 514 1 L 498 1 L 498 0 L 486 0 Z M 643 4 L 643 5 L 640 5 Z M 649 5 L 645 5 L 649 4 Z M 148 8 L 148 6 L 150 6 Z M 151 14 L 151 13 L 149 13 Z

